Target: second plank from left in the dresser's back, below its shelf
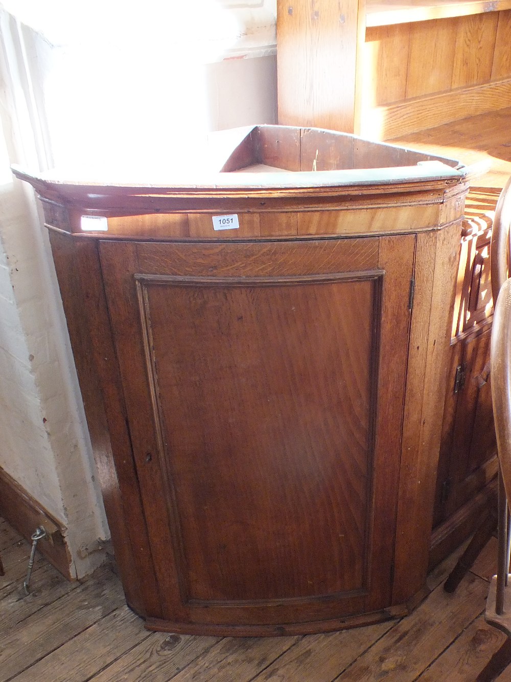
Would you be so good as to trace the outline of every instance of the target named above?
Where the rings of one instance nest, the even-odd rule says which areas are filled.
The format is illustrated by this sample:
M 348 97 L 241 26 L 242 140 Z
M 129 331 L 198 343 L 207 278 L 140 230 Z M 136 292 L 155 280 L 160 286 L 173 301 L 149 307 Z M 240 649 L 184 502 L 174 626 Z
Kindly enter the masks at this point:
M 412 24 L 409 33 L 406 98 L 450 90 L 456 33 L 456 19 Z

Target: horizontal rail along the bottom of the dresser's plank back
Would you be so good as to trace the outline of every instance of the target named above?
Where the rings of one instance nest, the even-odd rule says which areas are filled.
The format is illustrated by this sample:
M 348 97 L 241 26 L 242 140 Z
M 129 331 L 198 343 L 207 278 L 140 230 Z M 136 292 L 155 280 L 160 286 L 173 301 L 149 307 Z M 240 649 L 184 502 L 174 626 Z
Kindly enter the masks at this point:
M 392 140 L 437 125 L 511 106 L 511 80 L 376 106 L 362 113 L 360 134 Z

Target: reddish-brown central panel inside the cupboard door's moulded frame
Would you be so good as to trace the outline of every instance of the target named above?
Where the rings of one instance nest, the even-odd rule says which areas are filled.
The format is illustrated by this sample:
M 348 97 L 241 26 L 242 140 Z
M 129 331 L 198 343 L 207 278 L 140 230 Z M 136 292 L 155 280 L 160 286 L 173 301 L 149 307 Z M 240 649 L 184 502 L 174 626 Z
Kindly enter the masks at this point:
M 374 278 L 144 283 L 190 601 L 367 590 Z

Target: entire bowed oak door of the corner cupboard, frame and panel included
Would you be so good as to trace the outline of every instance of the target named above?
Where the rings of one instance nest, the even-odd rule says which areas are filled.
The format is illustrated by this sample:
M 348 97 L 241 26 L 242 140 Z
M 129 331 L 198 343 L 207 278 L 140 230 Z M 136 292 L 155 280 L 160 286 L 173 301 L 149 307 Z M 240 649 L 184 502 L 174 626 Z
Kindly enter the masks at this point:
M 377 238 L 101 243 L 168 621 L 390 604 L 414 253 L 399 239 L 385 269 Z

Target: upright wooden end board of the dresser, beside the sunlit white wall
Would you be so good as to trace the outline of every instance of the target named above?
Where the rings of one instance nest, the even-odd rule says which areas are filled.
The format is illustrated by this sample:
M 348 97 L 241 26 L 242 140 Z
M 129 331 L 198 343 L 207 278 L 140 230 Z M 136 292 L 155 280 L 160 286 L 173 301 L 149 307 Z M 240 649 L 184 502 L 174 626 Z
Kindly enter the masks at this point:
M 279 123 L 353 132 L 365 3 L 277 3 Z M 342 65 L 342 75 L 331 74 Z

